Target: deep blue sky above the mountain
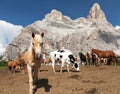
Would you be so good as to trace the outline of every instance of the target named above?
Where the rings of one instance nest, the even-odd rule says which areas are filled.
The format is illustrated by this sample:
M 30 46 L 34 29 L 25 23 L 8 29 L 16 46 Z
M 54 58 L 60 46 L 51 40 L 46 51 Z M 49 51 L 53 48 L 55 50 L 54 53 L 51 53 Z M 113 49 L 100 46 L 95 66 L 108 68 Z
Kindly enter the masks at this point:
M 0 20 L 27 26 L 42 20 L 52 9 L 71 19 L 87 17 L 96 2 L 113 26 L 120 25 L 120 0 L 0 0 Z

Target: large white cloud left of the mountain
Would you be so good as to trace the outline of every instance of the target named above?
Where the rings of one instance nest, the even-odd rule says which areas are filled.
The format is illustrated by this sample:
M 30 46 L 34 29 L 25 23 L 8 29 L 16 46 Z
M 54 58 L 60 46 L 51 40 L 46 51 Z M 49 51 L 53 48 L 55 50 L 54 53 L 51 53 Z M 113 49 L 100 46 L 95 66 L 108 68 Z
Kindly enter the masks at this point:
M 0 20 L 0 55 L 3 54 L 7 45 L 20 33 L 22 28 L 20 25 L 13 25 Z

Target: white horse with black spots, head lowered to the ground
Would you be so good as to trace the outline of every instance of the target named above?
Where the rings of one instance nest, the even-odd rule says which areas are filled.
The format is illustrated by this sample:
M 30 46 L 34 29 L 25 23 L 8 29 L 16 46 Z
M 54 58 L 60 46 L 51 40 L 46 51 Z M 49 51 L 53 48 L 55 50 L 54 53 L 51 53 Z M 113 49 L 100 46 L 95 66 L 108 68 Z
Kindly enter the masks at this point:
M 60 73 L 62 73 L 62 68 L 64 65 L 67 65 L 67 71 L 69 71 L 69 65 L 72 65 L 73 68 L 77 71 L 79 71 L 79 64 L 76 62 L 72 52 L 67 49 L 61 49 L 61 50 L 56 50 L 50 53 L 50 58 L 52 61 L 52 67 L 53 67 L 53 72 L 55 72 L 55 62 L 56 61 L 61 61 L 61 70 Z

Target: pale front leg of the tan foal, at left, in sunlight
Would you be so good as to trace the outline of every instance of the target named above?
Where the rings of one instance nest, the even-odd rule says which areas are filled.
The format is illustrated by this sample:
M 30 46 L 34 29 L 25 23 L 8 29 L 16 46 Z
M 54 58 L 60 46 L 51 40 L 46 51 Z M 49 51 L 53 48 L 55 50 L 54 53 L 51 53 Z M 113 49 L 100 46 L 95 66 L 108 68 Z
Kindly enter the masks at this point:
M 33 94 L 33 78 L 32 78 L 32 68 L 27 64 L 28 77 L 29 77 L 29 94 Z

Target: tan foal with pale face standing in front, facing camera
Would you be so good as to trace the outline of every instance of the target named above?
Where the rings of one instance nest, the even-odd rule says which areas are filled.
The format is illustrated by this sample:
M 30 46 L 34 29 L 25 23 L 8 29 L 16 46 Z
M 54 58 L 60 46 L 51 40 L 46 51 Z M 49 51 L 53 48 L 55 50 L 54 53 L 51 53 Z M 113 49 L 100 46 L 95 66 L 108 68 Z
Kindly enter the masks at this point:
M 24 61 L 27 64 L 29 77 L 29 94 L 35 93 L 34 82 L 38 80 L 38 70 L 43 62 L 42 48 L 44 33 L 32 33 L 31 45 L 24 53 Z

